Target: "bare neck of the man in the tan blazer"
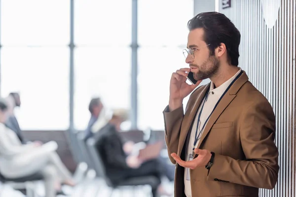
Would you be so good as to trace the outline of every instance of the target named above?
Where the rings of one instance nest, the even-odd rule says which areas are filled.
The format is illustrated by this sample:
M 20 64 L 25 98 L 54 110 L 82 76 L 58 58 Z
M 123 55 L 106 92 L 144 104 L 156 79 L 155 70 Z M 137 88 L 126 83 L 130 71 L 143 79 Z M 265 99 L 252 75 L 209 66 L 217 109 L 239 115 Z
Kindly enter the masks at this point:
M 233 77 L 237 71 L 239 71 L 238 66 L 227 66 L 226 69 L 220 69 L 215 76 L 211 77 L 211 81 L 214 83 L 214 87 L 218 88 L 231 77 Z

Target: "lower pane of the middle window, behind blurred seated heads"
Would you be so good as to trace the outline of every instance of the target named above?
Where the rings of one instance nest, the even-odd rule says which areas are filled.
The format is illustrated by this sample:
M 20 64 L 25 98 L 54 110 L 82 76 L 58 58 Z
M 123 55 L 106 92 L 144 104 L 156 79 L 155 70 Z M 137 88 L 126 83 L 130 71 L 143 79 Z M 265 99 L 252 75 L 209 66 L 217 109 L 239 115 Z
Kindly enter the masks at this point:
M 129 47 L 98 47 L 75 50 L 74 125 L 87 126 L 88 103 L 101 97 L 108 109 L 130 109 L 131 50 Z

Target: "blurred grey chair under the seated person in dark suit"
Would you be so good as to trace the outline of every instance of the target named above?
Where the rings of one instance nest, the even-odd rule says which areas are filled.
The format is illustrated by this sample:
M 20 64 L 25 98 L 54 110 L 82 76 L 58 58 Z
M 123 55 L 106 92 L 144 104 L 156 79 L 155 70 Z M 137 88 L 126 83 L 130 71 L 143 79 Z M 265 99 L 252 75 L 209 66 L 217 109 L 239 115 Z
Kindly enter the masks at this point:
M 99 139 L 98 136 L 97 136 L 97 139 Z M 89 148 L 91 156 L 94 159 L 95 170 L 97 172 L 97 175 L 106 181 L 106 184 L 112 189 L 112 192 L 115 189 L 121 189 L 124 186 L 134 186 L 133 189 L 135 189 L 135 186 L 149 185 L 149 186 L 151 186 L 152 189 L 157 188 L 158 180 L 153 176 L 130 178 L 130 179 L 124 180 L 123 182 L 119 183 L 116 186 L 113 185 L 111 183 L 111 180 L 109 179 L 109 177 L 107 177 L 107 175 L 106 175 L 106 169 L 105 169 L 104 163 L 101 159 L 100 153 L 96 149 L 95 144 L 96 144 L 96 141 L 94 138 L 89 138 L 87 140 L 87 146 Z M 111 192 L 111 196 L 113 194 L 112 192 Z M 152 190 L 152 192 L 153 192 L 153 190 Z M 155 192 L 156 192 L 156 190 L 154 191 L 154 193 Z

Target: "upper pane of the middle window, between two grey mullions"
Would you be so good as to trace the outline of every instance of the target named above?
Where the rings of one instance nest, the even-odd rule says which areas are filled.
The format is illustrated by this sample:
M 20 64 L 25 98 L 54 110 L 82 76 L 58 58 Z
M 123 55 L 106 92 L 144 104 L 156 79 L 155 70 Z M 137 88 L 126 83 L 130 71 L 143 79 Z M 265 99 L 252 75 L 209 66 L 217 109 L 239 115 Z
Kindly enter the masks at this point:
M 75 44 L 129 45 L 132 0 L 75 0 Z

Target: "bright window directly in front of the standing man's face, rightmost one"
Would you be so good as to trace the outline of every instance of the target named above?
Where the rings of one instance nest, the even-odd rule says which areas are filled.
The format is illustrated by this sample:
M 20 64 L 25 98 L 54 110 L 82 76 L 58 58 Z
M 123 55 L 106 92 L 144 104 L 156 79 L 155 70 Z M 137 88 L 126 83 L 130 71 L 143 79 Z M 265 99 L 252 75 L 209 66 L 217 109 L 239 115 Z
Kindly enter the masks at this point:
M 162 111 L 169 101 L 171 75 L 188 67 L 183 49 L 187 22 L 193 17 L 193 0 L 139 0 L 138 5 L 138 126 L 163 130 Z

